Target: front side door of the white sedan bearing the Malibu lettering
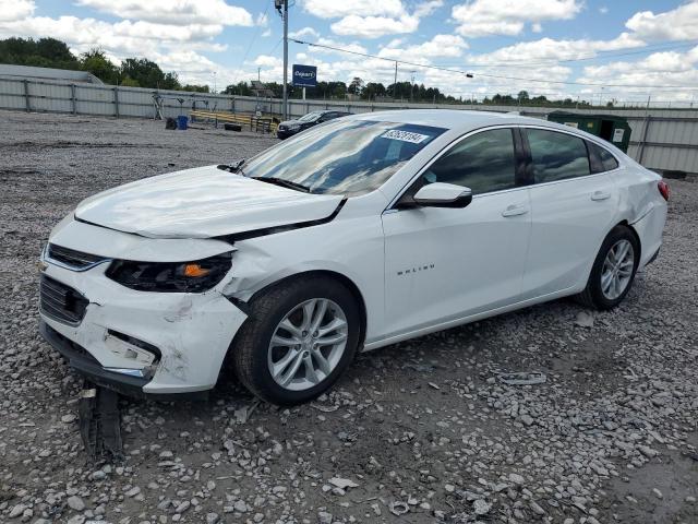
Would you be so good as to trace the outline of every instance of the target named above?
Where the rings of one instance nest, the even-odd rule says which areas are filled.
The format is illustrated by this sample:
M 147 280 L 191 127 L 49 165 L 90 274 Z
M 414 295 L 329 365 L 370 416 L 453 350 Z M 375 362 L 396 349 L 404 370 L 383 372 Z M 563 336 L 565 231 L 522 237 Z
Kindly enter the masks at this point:
M 387 336 L 517 301 L 531 215 L 515 141 L 518 131 L 509 128 L 468 135 L 407 190 L 460 184 L 472 190 L 468 206 L 384 212 Z

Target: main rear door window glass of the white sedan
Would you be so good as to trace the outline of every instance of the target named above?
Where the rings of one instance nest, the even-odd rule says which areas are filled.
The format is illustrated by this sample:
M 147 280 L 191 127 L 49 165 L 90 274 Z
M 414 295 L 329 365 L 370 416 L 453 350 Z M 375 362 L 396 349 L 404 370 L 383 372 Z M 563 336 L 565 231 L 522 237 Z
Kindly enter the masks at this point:
M 535 183 L 554 182 L 591 174 L 585 141 L 571 134 L 527 129 Z

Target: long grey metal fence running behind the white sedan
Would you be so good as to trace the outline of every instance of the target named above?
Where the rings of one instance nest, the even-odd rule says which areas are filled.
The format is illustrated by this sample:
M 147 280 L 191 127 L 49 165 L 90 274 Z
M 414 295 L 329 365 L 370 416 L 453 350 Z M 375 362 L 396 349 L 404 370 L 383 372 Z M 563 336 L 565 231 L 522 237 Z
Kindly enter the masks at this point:
M 111 117 L 168 118 L 192 109 L 280 115 L 281 100 L 244 96 L 93 85 L 36 79 L 0 76 L 0 108 Z M 491 106 L 482 104 L 433 105 L 338 100 L 289 100 L 289 114 L 299 117 L 313 110 L 342 109 L 368 112 L 407 108 L 448 108 L 486 111 L 517 110 L 545 118 L 551 107 Z M 567 109 L 579 114 L 607 114 L 627 118 L 633 130 L 628 155 L 659 171 L 698 174 L 698 110 L 696 109 Z

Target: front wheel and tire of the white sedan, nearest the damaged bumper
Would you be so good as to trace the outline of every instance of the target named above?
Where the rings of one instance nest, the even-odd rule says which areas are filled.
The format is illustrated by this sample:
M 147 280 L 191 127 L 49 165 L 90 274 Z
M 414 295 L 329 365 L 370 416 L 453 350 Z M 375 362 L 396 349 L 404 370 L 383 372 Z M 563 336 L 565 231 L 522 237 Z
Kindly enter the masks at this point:
M 237 376 L 258 397 L 301 404 L 327 391 L 353 360 L 360 314 L 351 291 L 326 276 L 263 290 L 238 333 Z

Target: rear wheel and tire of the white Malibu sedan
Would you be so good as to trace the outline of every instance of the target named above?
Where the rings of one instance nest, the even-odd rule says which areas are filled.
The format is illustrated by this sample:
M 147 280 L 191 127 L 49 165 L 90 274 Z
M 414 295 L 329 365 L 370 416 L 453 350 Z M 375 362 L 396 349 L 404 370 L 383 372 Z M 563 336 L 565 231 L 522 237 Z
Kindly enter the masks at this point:
M 607 310 L 623 301 L 635 281 L 640 245 L 627 226 L 616 226 L 597 254 L 587 287 L 575 298 L 589 308 Z

